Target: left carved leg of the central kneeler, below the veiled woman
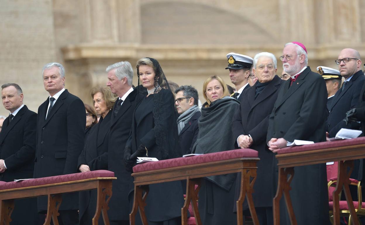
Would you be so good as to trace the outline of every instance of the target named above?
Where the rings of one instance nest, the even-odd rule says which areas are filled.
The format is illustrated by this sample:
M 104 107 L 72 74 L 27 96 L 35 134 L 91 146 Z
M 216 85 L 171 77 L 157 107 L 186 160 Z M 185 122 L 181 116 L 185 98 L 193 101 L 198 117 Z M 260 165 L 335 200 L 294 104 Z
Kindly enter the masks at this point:
M 143 191 L 145 191 L 144 195 Z M 146 197 L 148 191 L 149 191 L 148 185 L 134 186 L 133 207 L 132 207 L 132 212 L 129 214 L 129 221 L 131 225 L 135 225 L 135 216 L 137 214 L 137 210 L 139 210 L 139 215 L 141 216 L 142 224 L 148 225 L 147 217 L 145 214 Z

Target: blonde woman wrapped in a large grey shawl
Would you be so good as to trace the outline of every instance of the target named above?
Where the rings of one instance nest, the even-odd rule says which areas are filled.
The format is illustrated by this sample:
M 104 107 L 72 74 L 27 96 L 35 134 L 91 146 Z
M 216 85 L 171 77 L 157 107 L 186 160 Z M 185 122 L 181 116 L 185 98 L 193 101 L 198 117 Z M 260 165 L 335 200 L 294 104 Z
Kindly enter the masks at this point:
M 207 102 L 201 108 L 199 133 L 192 153 L 206 154 L 234 149 L 231 122 L 239 101 L 227 96 L 227 86 L 217 75 L 203 84 Z M 209 176 L 199 192 L 199 212 L 203 224 L 237 224 L 234 206 L 236 174 Z

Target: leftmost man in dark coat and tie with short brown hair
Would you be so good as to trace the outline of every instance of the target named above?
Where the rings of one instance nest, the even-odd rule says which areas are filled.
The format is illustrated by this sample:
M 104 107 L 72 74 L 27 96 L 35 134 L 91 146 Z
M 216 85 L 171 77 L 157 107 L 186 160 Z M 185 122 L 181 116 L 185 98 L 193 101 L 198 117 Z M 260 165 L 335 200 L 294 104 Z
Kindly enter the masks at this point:
M 33 177 L 37 113 L 23 105 L 23 91 L 17 84 L 1 86 L 1 98 L 10 111 L 0 133 L 0 180 Z M 37 224 L 37 199 L 15 200 L 11 224 Z

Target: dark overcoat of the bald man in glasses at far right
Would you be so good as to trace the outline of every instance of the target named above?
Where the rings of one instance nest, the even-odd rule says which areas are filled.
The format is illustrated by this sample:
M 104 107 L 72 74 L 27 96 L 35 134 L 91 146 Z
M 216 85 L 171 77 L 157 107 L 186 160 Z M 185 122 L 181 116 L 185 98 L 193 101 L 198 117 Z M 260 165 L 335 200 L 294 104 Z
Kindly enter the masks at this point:
M 346 84 L 345 89 L 340 88 L 335 96 L 333 96 L 332 104 L 328 109 L 330 115 L 327 119 L 327 131 L 330 137 L 335 137 L 336 133 L 341 128 L 359 129 L 360 124 L 351 122 L 346 125 L 345 119 L 346 112 L 359 103 L 359 96 L 362 86 L 364 85 L 365 76 L 364 73 L 359 70 L 353 75 L 350 81 Z

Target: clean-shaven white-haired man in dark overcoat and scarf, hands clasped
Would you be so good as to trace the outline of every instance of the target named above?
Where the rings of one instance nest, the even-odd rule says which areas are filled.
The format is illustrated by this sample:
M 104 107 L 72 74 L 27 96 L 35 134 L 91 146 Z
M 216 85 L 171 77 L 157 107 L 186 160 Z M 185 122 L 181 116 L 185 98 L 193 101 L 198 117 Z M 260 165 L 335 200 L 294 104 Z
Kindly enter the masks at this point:
M 237 148 L 251 148 L 258 151 L 257 179 L 254 183 L 253 199 L 260 224 L 273 224 L 272 162 L 274 154 L 266 144 L 269 115 L 272 112 L 282 80 L 275 75 L 277 61 L 271 53 L 258 53 L 253 59 L 253 72 L 257 82 L 245 90 L 239 108 L 232 120 L 232 131 Z M 239 174 L 240 176 L 241 174 Z M 239 180 L 239 178 L 238 178 Z M 236 199 L 239 197 L 239 182 Z M 245 201 L 243 210 L 249 214 Z M 239 212 L 242 213 L 242 212 Z

